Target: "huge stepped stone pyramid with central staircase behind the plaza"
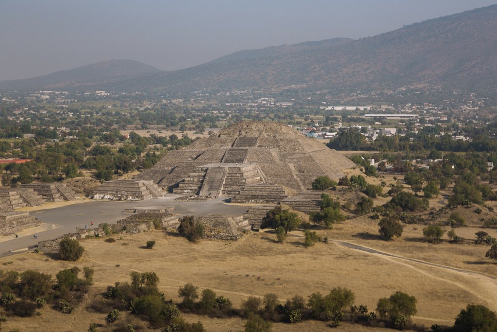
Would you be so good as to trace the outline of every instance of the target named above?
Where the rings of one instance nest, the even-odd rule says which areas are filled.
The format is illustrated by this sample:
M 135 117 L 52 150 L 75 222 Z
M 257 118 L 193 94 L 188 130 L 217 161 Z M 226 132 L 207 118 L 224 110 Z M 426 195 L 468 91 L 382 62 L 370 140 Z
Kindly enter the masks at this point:
M 169 151 L 136 179 L 176 193 L 236 195 L 247 185 L 307 190 L 318 176 L 333 180 L 356 165 L 324 141 L 277 122 L 240 122 L 190 146 Z

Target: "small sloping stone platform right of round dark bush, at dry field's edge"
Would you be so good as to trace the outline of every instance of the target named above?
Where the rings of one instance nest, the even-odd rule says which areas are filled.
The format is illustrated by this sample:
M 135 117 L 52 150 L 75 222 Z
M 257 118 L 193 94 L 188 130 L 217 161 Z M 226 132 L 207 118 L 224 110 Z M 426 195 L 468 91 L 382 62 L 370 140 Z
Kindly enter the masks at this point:
M 250 229 L 242 216 L 207 215 L 195 218 L 205 226 L 205 238 L 236 241 L 242 237 L 245 230 Z

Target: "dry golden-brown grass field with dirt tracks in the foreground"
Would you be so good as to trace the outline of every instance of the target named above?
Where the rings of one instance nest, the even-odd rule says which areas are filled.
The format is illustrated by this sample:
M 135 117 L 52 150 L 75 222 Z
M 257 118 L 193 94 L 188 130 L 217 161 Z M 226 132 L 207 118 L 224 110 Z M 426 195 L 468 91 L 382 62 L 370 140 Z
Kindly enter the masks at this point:
M 301 231 L 292 232 L 283 244 L 275 243 L 272 232 L 249 233 L 236 242 L 204 240 L 196 244 L 164 231 L 113 235 L 117 240 L 113 243 L 104 242 L 102 238 L 81 241 L 85 252 L 76 265 L 80 268 L 90 266 L 95 270 L 94 285 L 73 314 L 43 309 L 39 317 L 9 318 L 2 323 L 2 328 L 5 331 L 85 331 L 90 323 L 95 322 L 103 326 L 99 331 L 112 331 L 105 327 L 105 315 L 91 312 L 88 306 L 108 285 L 129 281 L 132 271 L 155 271 L 160 277 L 160 289 L 174 301 L 179 300 L 178 287 L 187 282 L 229 297 L 236 307 L 250 295 L 262 297 L 266 293 L 276 293 L 281 301 L 285 301 L 296 294 L 307 297 L 315 291 L 328 293 L 331 288 L 341 286 L 353 290 L 356 304 L 365 304 L 370 310 L 376 308 L 380 297 L 388 297 L 397 290 L 414 295 L 418 301 L 414 322 L 426 327 L 433 323 L 452 324 L 468 303 L 479 303 L 497 310 L 497 283 L 491 277 L 497 275 L 497 264 L 484 258 L 485 246 L 429 244 L 420 240 L 422 227 L 419 225 L 407 225 L 402 238 L 386 242 L 377 239 L 376 223 L 356 218 L 319 232 L 328 235 L 330 240 L 345 240 L 477 273 L 367 253 L 333 240 L 306 249 L 302 245 Z M 465 237 L 466 232 L 474 233 L 471 227 L 464 228 L 464 232 L 463 228 L 459 229 Z M 495 231 L 493 235 L 497 235 Z M 470 238 L 470 234 L 467 237 Z M 148 240 L 157 241 L 154 249 L 141 248 Z M 7 261 L 13 263 L 5 264 Z M 3 269 L 36 269 L 52 275 L 75 265 L 32 252 L 3 257 L 0 264 L 3 264 Z M 238 331 L 244 324 L 240 319 L 195 315 L 186 315 L 185 318 L 191 322 L 201 321 L 207 331 Z M 147 324 L 136 317 L 124 315 L 116 324 L 124 323 L 132 323 L 135 328 L 141 328 L 140 331 L 147 331 Z M 357 331 L 358 328 L 361 331 L 391 331 L 347 324 L 336 331 Z M 273 325 L 273 331 L 329 329 L 324 322 Z

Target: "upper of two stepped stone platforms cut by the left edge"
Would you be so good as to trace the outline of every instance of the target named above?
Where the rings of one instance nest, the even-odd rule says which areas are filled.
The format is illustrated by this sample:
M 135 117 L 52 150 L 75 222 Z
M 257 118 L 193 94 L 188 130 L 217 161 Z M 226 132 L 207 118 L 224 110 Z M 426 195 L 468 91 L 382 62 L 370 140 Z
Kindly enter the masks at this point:
M 35 207 L 46 203 L 45 199 L 29 188 L 0 188 L 0 211 L 12 211 L 23 207 Z

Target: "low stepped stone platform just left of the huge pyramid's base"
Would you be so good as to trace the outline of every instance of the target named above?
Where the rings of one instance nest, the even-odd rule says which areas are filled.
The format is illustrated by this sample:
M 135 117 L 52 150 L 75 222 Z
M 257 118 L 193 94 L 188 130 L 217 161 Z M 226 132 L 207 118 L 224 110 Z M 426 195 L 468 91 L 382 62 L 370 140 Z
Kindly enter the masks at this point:
M 143 201 L 164 195 L 162 189 L 153 181 L 111 180 L 105 181 L 96 188 L 90 198 L 111 201 Z

